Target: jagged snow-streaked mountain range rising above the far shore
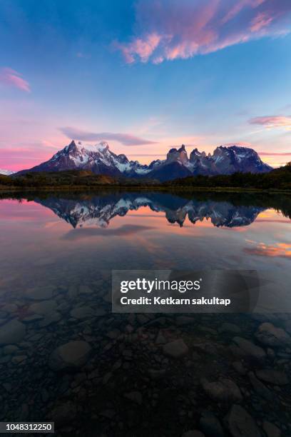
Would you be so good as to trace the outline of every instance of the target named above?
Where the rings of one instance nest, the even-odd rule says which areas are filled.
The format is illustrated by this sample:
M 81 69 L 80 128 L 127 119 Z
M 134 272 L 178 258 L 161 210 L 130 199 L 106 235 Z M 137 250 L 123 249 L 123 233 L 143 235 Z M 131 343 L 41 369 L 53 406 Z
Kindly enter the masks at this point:
M 185 146 L 180 149 L 170 149 L 165 159 L 157 159 L 149 165 L 130 161 L 124 154 L 116 155 L 108 144 L 88 145 L 75 141 L 58 151 L 48 161 L 29 170 L 19 171 L 25 174 L 28 171 L 67 171 L 90 170 L 94 174 L 108 176 L 126 176 L 134 178 L 157 179 L 169 181 L 185 176 L 217 174 L 233 174 L 238 171 L 246 173 L 265 173 L 271 171 L 260 159 L 256 151 L 242 146 L 219 146 L 213 154 L 206 155 L 198 149 L 193 149 L 188 157 Z

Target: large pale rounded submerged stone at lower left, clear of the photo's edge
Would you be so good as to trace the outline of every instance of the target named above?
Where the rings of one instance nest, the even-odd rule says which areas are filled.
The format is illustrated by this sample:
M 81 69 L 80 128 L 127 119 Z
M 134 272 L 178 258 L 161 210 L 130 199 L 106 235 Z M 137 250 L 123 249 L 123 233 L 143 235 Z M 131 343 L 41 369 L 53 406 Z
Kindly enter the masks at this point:
M 58 346 L 52 353 L 48 365 L 54 371 L 83 366 L 91 352 L 86 341 L 70 341 Z

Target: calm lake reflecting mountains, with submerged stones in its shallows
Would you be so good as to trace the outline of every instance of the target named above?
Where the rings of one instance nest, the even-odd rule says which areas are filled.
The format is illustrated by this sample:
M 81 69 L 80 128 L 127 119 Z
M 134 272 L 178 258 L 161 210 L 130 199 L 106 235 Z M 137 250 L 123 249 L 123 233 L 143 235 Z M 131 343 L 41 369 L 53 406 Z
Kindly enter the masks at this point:
M 1 194 L 1 421 L 220 436 L 240 416 L 291 435 L 290 217 L 283 194 Z M 255 270 L 260 305 L 112 313 L 111 271 L 135 269 Z

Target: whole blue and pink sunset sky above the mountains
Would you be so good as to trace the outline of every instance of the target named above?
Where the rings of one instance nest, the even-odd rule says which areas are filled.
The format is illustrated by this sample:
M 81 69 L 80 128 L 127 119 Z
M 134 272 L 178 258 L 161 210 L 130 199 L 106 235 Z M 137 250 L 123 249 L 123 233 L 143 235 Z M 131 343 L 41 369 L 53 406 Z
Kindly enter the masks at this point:
M 290 0 L 1 0 L 0 168 L 71 139 L 291 161 Z

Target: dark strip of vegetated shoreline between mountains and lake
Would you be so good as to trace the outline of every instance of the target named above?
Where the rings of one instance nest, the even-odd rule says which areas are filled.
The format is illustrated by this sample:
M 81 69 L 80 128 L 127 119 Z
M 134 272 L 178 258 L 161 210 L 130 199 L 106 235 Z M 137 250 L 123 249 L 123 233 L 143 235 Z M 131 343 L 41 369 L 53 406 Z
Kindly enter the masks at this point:
M 291 191 L 291 162 L 269 173 L 235 173 L 218 176 L 188 176 L 161 183 L 152 179 L 118 178 L 96 175 L 91 171 L 28 172 L 23 175 L 1 176 L 0 189 L 94 189 L 113 187 L 138 187 L 139 189 L 175 189 L 210 191 L 228 189 Z

